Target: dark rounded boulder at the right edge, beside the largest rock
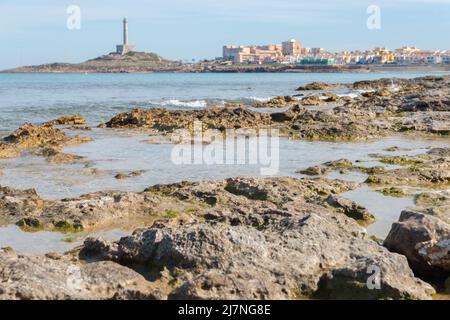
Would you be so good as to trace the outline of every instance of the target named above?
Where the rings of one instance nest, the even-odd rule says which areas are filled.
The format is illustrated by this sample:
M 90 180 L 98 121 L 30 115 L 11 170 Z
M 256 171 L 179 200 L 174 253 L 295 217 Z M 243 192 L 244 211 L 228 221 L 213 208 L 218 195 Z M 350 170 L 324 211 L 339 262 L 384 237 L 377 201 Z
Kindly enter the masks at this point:
M 384 246 L 406 256 L 418 274 L 448 276 L 450 272 L 450 226 L 433 216 L 403 211 Z

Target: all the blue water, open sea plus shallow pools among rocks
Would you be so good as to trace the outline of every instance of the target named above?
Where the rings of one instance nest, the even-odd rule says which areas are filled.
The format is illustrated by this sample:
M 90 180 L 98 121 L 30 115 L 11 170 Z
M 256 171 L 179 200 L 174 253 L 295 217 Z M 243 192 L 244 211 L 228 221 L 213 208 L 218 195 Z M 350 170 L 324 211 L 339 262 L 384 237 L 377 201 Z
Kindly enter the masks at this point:
M 422 76 L 401 74 L 0 74 L 0 136 L 24 122 L 44 122 L 62 115 L 81 114 L 92 126 L 133 107 L 171 109 L 205 108 L 224 101 L 259 101 L 297 93 L 309 82 L 345 82 L 383 77 Z M 341 93 L 351 93 L 344 89 Z M 132 130 L 94 128 L 68 134 L 89 136 L 94 141 L 65 148 L 84 157 L 83 162 L 55 165 L 26 154 L 17 159 L 0 159 L 0 185 L 35 188 L 46 199 L 75 197 L 99 190 L 142 191 L 159 183 L 181 180 L 213 180 L 234 176 L 261 176 L 258 165 L 177 165 L 171 144 L 149 144 L 150 137 Z M 368 157 L 385 148 L 401 146 L 389 154 L 424 153 L 429 147 L 449 147 L 438 138 L 386 137 L 366 143 L 331 143 L 280 139 L 276 175 L 301 177 L 298 170 L 326 161 L 347 158 L 364 160 L 366 166 L 381 165 Z M 395 168 L 395 167 L 389 167 Z M 117 173 L 142 170 L 139 177 L 117 180 Z M 330 178 L 362 182 L 364 174 L 333 172 Z M 420 190 L 416 190 L 419 192 Z M 385 237 L 401 210 L 414 205 L 413 198 L 384 197 L 363 186 L 344 195 L 366 206 L 377 218 L 369 234 Z M 98 234 L 116 239 L 130 230 L 101 230 Z M 0 247 L 12 246 L 24 253 L 66 251 L 88 234 L 62 235 L 49 232 L 28 234 L 15 226 L 0 227 Z M 74 237 L 76 242 L 64 241 Z

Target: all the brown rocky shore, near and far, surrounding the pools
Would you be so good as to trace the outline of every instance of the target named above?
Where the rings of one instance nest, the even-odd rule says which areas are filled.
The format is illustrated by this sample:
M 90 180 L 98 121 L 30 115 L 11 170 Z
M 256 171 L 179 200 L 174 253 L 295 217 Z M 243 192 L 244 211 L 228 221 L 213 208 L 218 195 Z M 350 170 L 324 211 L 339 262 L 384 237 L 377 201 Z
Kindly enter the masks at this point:
M 448 137 L 449 84 L 450 77 L 312 83 L 296 97 L 258 105 L 135 109 L 99 127 L 171 137 L 201 121 L 203 129 L 270 127 L 291 139 L 320 141 Z M 361 94 L 331 92 L 337 87 Z M 260 111 L 266 108 L 271 111 Z M 0 158 L 82 162 L 64 152 L 90 141 L 69 134 L 73 126 L 86 120 L 25 124 L 1 140 Z M 449 150 L 403 155 L 390 147 L 368 155 L 379 166 L 342 158 L 299 168 L 296 177 L 184 181 L 59 200 L 0 186 L 0 220 L 26 232 L 134 230 L 117 241 L 88 237 L 64 254 L 1 249 L 0 299 L 431 299 L 436 291 L 450 293 Z M 333 172 L 366 178 L 331 179 Z M 141 172 L 116 178 L 134 174 Z M 384 196 L 414 197 L 415 207 L 398 212 L 385 239 L 367 233 L 377 219 L 373 212 L 343 196 L 362 185 Z

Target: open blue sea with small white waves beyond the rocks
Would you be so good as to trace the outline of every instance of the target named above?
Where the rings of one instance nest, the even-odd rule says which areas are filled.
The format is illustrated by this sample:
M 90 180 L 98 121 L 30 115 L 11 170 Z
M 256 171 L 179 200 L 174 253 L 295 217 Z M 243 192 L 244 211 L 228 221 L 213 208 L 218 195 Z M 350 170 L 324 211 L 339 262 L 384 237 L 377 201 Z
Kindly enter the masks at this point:
M 252 102 L 313 81 L 351 83 L 423 73 L 247 73 L 247 74 L 0 74 L 0 132 L 24 122 L 82 114 L 89 124 L 105 122 L 134 107 L 204 108 L 224 101 Z

